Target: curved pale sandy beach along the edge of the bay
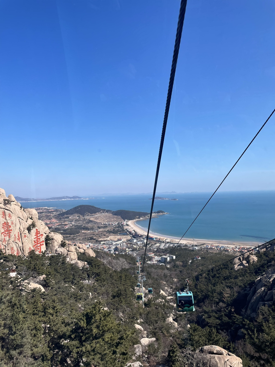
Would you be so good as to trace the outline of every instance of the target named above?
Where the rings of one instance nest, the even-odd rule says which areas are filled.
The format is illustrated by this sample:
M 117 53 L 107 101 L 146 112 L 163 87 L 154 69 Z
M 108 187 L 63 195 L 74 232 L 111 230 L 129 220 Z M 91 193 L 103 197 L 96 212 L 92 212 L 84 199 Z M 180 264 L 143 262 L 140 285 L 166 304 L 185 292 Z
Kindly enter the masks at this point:
M 135 219 L 133 221 L 128 221 L 128 226 L 131 227 L 133 230 L 135 230 L 137 233 L 139 233 L 140 235 L 147 235 L 147 231 L 139 226 L 136 222 L 140 221 L 140 220 L 144 220 L 144 219 Z M 177 243 L 180 240 L 180 237 L 173 237 L 173 236 L 167 236 L 167 235 L 161 235 L 160 233 L 155 233 L 155 232 L 149 232 L 149 234 L 151 236 L 154 237 L 159 237 L 160 240 L 167 240 L 170 242 L 174 242 Z M 193 239 L 192 238 L 186 238 L 184 237 L 182 240 L 180 240 L 180 243 L 187 243 L 187 244 L 193 244 Z M 229 241 L 229 240 L 206 240 L 206 239 L 198 239 L 195 238 L 194 239 L 194 243 L 195 245 L 198 244 L 217 244 L 217 245 L 227 245 L 227 246 L 257 246 L 262 244 L 263 242 L 258 242 L 258 241 Z

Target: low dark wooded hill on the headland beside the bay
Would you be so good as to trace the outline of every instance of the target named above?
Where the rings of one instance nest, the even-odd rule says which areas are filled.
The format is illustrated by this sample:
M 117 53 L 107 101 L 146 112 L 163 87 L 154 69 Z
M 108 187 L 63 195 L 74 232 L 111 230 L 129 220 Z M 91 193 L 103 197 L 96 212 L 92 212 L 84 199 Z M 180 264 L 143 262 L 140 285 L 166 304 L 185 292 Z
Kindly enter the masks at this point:
M 110 213 L 113 215 L 117 215 L 119 217 L 121 217 L 122 219 L 127 219 L 127 220 L 133 220 L 133 219 L 139 219 L 139 218 L 143 218 L 146 217 L 147 215 L 149 215 L 149 213 L 147 212 L 143 212 L 143 211 L 132 211 L 132 210 L 108 210 L 108 209 L 101 209 L 101 208 L 97 208 L 93 205 L 78 205 L 72 209 L 66 210 L 63 213 L 59 214 L 59 216 L 64 217 L 65 215 L 72 215 L 72 214 L 79 214 L 82 215 L 83 217 L 85 215 L 89 215 L 89 214 L 96 214 L 96 213 Z M 162 210 L 158 210 L 154 212 L 155 214 L 163 214 L 164 211 Z

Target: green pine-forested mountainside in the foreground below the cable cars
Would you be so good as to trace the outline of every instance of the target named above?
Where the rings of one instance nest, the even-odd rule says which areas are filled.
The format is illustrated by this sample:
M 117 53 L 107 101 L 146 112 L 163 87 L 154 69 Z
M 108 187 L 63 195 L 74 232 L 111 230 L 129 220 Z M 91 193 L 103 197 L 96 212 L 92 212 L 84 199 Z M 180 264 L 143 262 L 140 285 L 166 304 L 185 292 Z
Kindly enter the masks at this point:
M 79 254 L 88 263 L 80 269 L 62 255 L 0 252 L 0 365 L 205 367 L 195 351 L 218 345 L 242 358 L 243 367 L 274 367 L 274 251 L 257 254 L 257 262 L 239 271 L 232 262 L 211 269 L 230 254 L 201 251 L 199 261 L 191 250 L 174 254 L 169 268 L 145 264 L 143 307 L 135 300 L 140 290 L 131 256 Z M 196 310 L 179 313 L 174 295 L 187 277 Z M 28 289 L 27 280 L 45 291 Z M 263 287 L 268 302 L 250 314 L 251 291 L 259 301 Z

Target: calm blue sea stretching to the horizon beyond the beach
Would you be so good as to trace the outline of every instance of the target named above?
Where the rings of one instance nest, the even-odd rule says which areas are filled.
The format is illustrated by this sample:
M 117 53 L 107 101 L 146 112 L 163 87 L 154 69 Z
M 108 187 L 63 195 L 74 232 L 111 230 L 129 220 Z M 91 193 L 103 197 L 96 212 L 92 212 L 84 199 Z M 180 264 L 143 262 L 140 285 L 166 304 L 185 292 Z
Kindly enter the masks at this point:
M 155 200 L 159 215 L 151 221 L 151 232 L 162 236 L 181 237 L 211 193 L 158 193 L 157 196 L 177 200 Z M 152 194 L 102 195 L 88 200 L 56 200 L 22 203 L 24 208 L 55 207 L 71 209 L 78 205 L 94 205 L 110 210 L 149 212 Z M 148 220 L 136 225 L 147 229 Z M 185 235 L 185 238 L 264 243 L 275 238 L 275 190 L 217 192 Z

